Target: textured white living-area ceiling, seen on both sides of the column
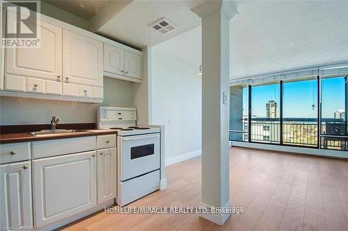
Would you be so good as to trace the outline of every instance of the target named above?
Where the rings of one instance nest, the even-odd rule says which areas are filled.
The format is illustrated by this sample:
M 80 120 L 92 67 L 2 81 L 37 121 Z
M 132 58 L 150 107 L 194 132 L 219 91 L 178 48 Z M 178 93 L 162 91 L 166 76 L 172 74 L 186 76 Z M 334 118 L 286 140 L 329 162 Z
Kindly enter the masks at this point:
M 231 78 L 348 60 L 348 1 L 255 1 L 230 22 Z M 201 63 L 201 28 L 163 42 L 184 62 Z

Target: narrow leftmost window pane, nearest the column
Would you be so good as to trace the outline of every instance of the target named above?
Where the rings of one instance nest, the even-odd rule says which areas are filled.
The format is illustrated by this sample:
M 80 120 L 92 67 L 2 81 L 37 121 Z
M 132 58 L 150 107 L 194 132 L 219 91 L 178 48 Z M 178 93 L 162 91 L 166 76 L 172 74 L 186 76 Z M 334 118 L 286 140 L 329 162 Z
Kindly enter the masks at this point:
M 230 140 L 248 142 L 248 85 L 230 87 Z

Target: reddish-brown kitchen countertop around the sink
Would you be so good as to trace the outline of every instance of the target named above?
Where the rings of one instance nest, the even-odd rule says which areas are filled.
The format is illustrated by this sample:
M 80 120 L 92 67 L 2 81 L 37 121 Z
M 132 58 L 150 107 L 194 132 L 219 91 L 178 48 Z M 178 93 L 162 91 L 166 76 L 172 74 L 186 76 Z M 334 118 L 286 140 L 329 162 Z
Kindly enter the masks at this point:
M 32 142 L 47 139 L 65 139 L 72 137 L 86 137 L 91 135 L 117 134 L 117 130 L 88 129 L 84 132 L 71 132 L 50 135 L 29 135 L 25 132 L 0 134 L 0 144 Z

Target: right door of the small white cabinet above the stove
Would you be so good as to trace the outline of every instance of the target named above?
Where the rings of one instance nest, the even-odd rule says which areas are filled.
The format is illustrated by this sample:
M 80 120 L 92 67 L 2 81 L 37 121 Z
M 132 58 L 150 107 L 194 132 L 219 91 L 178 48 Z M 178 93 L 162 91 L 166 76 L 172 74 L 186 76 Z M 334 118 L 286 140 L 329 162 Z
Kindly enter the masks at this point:
M 125 76 L 141 78 L 141 56 L 125 51 Z

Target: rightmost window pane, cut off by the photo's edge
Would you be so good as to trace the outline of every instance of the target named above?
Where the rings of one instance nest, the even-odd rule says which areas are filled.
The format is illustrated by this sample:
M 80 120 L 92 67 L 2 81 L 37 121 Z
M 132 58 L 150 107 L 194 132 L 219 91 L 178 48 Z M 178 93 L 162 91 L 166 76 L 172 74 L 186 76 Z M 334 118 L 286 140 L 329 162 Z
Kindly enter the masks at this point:
M 348 151 L 347 131 L 347 74 L 323 76 L 321 148 Z

